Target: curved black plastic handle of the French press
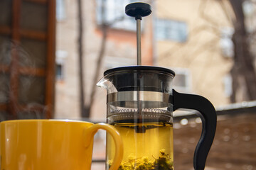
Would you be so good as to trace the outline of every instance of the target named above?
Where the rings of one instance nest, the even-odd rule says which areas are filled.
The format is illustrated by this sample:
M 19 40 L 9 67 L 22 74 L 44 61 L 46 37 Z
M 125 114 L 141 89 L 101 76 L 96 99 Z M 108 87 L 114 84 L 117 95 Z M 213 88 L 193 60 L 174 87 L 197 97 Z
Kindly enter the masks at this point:
M 217 115 L 212 103 L 206 98 L 192 94 L 180 94 L 173 90 L 174 111 L 178 108 L 188 108 L 199 111 L 202 120 L 202 133 L 193 158 L 195 170 L 203 170 L 206 166 L 206 158 L 213 144 L 215 136 Z

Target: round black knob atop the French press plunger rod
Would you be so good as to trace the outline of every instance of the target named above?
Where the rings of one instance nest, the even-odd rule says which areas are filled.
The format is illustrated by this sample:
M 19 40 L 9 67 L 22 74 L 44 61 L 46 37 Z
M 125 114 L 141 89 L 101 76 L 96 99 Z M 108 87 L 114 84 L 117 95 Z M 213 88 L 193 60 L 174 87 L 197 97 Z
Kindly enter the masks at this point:
M 125 6 L 127 16 L 135 17 L 135 20 L 142 20 L 142 17 L 149 16 L 151 12 L 151 6 L 143 2 L 135 2 Z

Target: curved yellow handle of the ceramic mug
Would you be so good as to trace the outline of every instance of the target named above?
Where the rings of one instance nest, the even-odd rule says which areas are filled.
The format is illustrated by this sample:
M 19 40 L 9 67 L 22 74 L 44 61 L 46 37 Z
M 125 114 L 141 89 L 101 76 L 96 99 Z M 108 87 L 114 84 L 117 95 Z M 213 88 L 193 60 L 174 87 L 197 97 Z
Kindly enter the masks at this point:
M 99 129 L 106 130 L 107 132 L 110 133 L 110 135 L 112 135 L 114 139 L 114 145 L 116 146 L 116 149 L 114 153 L 114 161 L 113 164 L 110 166 L 110 170 L 117 170 L 119 169 L 119 166 L 122 162 L 124 145 L 122 142 L 122 137 L 119 135 L 119 132 L 114 127 L 112 127 L 112 125 L 108 125 L 106 123 L 97 123 L 95 125 L 90 126 L 89 128 L 86 128 L 84 135 L 89 137 L 90 140 L 85 141 L 85 147 L 90 147 L 92 137 Z

